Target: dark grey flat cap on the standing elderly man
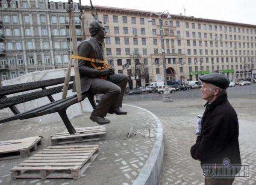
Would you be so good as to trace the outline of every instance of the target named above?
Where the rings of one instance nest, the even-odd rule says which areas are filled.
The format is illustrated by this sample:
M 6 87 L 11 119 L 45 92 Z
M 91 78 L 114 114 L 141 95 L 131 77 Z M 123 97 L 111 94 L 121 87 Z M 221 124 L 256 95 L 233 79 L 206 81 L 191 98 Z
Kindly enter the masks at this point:
M 230 80 L 225 74 L 211 73 L 199 77 L 202 82 L 211 83 L 219 88 L 227 89 L 230 85 Z

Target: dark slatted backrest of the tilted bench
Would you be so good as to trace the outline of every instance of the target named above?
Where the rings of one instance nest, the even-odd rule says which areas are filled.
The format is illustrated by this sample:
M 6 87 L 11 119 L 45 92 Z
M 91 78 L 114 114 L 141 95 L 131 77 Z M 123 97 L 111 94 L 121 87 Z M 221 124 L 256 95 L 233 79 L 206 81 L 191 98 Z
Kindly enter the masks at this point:
M 30 82 L 30 83 L 21 83 L 15 85 L 6 85 L 0 87 L 0 109 L 9 107 L 14 114 L 18 114 L 18 109 L 14 106 L 19 103 L 28 102 L 31 100 L 35 100 L 41 97 L 48 97 L 51 102 L 55 101 L 52 94 L 57 94 L 62 92 L 63 85 L 59 85 L 57 87 L 46 88 L 53 85 L 63 84 L 65 78 L 56 78 L 50 80 L 42 80 L 37 82 Z M 74 76 L 70 78 L 70 81 L 74 80 Z M 72 89 L 73 83 L 68 85 L 68 89 Z M 41 88 L 42 90 L 39 90 Z M 30 91 L 38 89 L 35 92 L 29 92 L 26 94 L 21 94 L 14 97 L 6 97 L 8 94 L 15 94 L 18 92 Z

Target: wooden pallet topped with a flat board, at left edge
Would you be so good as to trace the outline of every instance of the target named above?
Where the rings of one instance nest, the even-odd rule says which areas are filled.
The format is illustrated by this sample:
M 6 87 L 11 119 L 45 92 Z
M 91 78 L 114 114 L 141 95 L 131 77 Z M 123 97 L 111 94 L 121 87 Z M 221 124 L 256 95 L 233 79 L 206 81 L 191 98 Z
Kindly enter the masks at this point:
M 28 157 L 30 151 L 35 151 L 37 145 L 41 145 L 41 136 L 26 137 L 0 142 L 0 160 L 13 159 L 17 157 Z

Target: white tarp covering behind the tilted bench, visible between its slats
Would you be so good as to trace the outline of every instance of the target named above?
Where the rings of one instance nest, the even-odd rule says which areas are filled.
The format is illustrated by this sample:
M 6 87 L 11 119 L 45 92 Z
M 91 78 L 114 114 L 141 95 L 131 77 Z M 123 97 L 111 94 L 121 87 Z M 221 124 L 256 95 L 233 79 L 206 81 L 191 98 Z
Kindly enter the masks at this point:
M 25 74 L 24 76 L 12 79 L 12 80 L 4 80 L 4 81 L 2 81 L 2 86 L 14 85 L 14 84 L 19 84 L 19 83 L 36 82 L 36 81 L 40 81 L 40 80 L 48 80 L 48 79 L 53 79 L 53 78 L 61 78 L 61 77 L 65 77 L 65 74 L 66 74 L 66 68 L 47 70 L 47 71 L 35 71 L 35 72 Z M 73 76 L 73 75 L 74 75 L 74 70 L 72 68 L 71 76 Z M 59 85 L 56 85 L 56 86 L 59 86 Z M 53 87 L 53 86 L 50 86 L 50 87 Z M 49 87 L 47 87 L 47 88 L 49 88 Z M 33 92 L 33 91 L 38 91 L 38 90 L 41 90 L 41 88 L 32 90 L 32 91 L 25 91 L 25 92 L 13 94 L 13 95 L 7 95 L 7 97 L 17 96 L 20 94 L 25 94 L 28 92 Z M 68 91 L 67 97 L 72 96 L 73 94 L 75 94 L 75 93 L 72 93 L 72 89 L 71 89 Z M 62 99 L 62 93 L 53 94 L 52 96 L 53 96 L 54 100 Z M 50 103 L 50 100 L 47 97 L 43 97 L 43 98 L 40 98 L 37 100 L 24 102 L 24 103 L 15 105 L 15 106 L 18 108 L 18 110 L 20 112 L 24 112 L 24 111 L 29 111 L 30 109 L 45 105 L 47 103 Z M 82 108 L 83 108 L 83 111 L 92 111 L 91 104 L 87 98 L 82 101 Z M 9 108 L 8 108 L 8 111 L 9 111 L 10 116 L 13 115 L 12 111 Z M 75 116 L 82 115 L 80 103 L 71 105 L 67 109 L 67 115 L 68 115 L 69 119 L 72 119 Z M 40 117 L 31 118 L 30 120 L 38 121 L 41 123 L 47 123 L 47 122 L 59 121 L 59 120 L 61 120 L 61 117 L 59 116 L 58 113 L 53 113 L 53 114 L 47 114 L 47 115 L 40 116 Z

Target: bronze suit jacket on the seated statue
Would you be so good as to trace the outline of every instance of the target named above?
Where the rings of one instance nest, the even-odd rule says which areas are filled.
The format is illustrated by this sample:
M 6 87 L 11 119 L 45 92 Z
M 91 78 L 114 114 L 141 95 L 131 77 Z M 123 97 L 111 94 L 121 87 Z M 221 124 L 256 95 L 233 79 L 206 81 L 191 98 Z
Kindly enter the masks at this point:
M 103 60 L 101 43 L 97 42 L 93 37 L 82 41 L 78 46 L 78 56 Z M 102 65 L 98 63 L 94 64 L 96 66 Z M 99 71 L 95 69 L 89 61 L 85 60 L 78 60 L 78 66 L 81 80 L 81 91 L 88 91 L 94 78 L 99 78 Z M 73 91 L 76 92 L 75 80 Z

